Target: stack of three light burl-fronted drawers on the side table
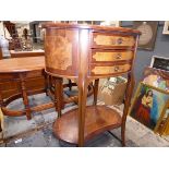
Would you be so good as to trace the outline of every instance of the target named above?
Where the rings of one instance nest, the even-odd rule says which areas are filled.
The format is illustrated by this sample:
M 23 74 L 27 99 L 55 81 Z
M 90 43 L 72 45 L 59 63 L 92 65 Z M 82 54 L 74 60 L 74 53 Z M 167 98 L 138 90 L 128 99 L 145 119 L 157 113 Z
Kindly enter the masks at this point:
M 90 75 L 110 75 L 131 70 L 135 37 L 119 33 L 93 32 Z

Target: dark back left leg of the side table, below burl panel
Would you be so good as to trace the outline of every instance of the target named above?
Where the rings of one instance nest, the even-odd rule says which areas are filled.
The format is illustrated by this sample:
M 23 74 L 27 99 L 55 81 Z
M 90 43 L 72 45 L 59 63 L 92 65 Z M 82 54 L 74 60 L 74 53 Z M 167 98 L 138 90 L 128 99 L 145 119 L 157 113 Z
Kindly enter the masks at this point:
M 55 105 L 58 111 L 58 118 L 61 117 L 61 109 L 63 108 L 63 79 L 55 77 Z

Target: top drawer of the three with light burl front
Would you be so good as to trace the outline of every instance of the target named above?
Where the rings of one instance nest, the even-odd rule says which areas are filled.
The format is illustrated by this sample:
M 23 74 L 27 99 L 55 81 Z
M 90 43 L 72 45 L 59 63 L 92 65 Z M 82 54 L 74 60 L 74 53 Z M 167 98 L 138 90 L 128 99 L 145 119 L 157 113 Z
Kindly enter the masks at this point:
M 109 46 L 109 47 L 133 47 L 135 45 L 135 38 L 133 36 L 120 36 L 94 33 L 93 34 L 93 47 L 95 46 Z

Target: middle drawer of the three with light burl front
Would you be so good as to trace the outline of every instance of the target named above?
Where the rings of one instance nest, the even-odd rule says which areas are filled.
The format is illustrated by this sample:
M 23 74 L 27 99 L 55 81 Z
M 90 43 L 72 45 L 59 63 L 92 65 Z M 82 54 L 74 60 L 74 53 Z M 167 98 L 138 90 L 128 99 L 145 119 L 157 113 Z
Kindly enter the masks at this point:
M 132 60 L 133 51 L 92 51 L 92 62 L 113 62 L 122 60 Z

